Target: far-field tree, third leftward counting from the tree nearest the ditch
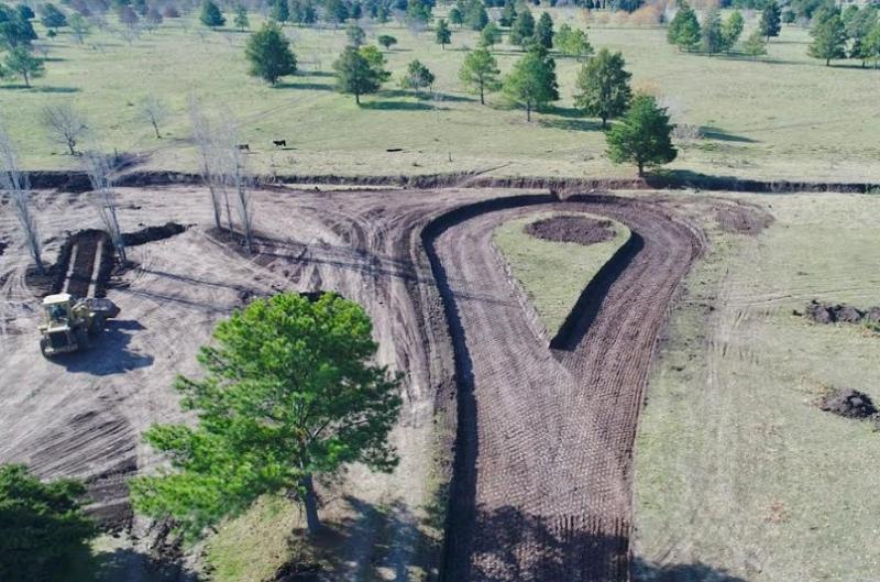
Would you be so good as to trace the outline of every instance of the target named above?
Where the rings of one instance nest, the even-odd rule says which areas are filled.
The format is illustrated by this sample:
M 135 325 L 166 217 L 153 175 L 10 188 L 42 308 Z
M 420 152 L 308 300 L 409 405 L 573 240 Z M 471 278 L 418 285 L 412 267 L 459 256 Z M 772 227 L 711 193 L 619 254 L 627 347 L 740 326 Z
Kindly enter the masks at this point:
M 529 47 L 522 58 L 504 80 L 505 95 L 526 108 L 526 121 L 531 121 L 532 109 L 559 99 L 556 62 L 538 44 Z

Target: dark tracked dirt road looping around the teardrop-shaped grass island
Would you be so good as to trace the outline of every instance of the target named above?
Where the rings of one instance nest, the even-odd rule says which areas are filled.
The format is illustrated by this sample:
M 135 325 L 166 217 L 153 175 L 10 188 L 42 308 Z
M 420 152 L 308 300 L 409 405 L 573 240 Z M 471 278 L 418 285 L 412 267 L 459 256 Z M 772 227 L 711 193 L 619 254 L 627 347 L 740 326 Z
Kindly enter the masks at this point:
M 460 382 L 449 581 L 629 578 L 642 391 L 700 238 L 654 202 L 596 197 L 538 208 L 613 218 L 639 245 L 586 301 L 568 349 L 550 351 L 490 248 L 495 227 L 535 207 L 465 216 L 427 241 Z

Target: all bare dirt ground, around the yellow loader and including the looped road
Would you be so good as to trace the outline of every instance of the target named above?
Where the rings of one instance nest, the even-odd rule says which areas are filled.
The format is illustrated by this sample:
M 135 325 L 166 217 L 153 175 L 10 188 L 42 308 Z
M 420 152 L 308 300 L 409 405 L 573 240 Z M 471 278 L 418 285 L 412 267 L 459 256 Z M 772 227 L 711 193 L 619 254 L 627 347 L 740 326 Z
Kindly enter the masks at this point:
M 343 541 L 333 580 L 399 579 L 424 551 L 432 425 L 447 417 L 454 427 L 455 374 L 460 426 L 446 579 L 626 580 L 642 389 L 658 331 L 701 240 L 672 205 L 595 197 L 447 220 L 426 254 L 421 230 L 431 219 L 507 196 L 262 190 L 254 196 L 260 252 L 249 256 L 212 234 L 205 191 L 121 189 L 127 232 L 168 221 L 195 226 L 132 248 L 138 266 L 107 293 L 122 309 L 118 320 L 88 352 L 57 360 L 40 355 L 26 252 L 10 245 L 0 263 L 0 462 L 26 462 L 45 477 L 88 479 L 102 515 L 124 520 L 124 477 L 157 462 L 140 433 L 183 419 L 172 380 L 198 372 L 195 353 L 216 321 L 254 295 L 332 289 L 365 307 L 380 360 L 407 374 L 394 435 L 402 465 L 391 476 L 349 473 L 344 491 L 362 523 Z M 50 261 L 72 224 L 99 227 L 87 195 L 43 191 L 37 200 Z M 548 209 L 613 218 L 639 241 L 581 306 L 579 331 L 558 351 L 530 332 L 490 249 L 495 226 Z M 3 212 L 0 239 L 16 240 L 15 229 Z M 396 516 L 383 545 L 369 527 L 377 506 Z

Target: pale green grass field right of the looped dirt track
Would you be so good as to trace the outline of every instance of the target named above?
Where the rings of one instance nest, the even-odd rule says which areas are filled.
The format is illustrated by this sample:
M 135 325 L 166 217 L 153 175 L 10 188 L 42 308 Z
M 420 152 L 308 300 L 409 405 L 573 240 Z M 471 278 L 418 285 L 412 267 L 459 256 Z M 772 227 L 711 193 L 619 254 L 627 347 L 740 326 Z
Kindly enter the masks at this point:
M 777 222 L 714 232 L 672 315 L 636 446 L 637 554 L 733 581 L 876 580 L 880 433 L 815 402 L 880 399 L 880 336 L 792 310 L 880 305 L 880 198 L 752 199 Z

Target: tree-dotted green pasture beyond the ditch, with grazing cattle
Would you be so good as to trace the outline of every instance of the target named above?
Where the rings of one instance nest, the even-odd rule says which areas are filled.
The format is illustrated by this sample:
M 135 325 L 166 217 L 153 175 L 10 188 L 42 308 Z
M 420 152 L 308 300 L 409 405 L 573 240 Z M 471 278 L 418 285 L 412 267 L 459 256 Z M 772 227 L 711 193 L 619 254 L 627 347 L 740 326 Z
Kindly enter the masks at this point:
M 595 47 L 623 51 L 637 88 L 658 95 L 675 121 L 704 128 L 704 139 L 679 144 L 671 168 L 766 179 L 880 180 L 880 117 L 869 98 L 880 72 L 843 62 L 827 68 L 807 58 L 805 30 L 784 28 L 769 56 L 751 62 L 680 54 L 667 44 L 664 29 L 606 22 L 607 14 L 551 13 L 557 26 L 566 21 L 590 26 Z M 251 20 L 258 24 L 257 17 Z M 110 21 L 119 26 L 113 17 Z M 754 25 L 749 19 L 744 37 Z M 458 70 L 464 51 L 476 45 L 475 33 L 455 30 L 443 51 L 431 31 L 416 35 L 394 24 L 371 26 L 371 42 L 381 33 L 399 40 L 387 53 L 395 78 L 358 108 L 333 91 L 331 65 L 345 43 L 344 30 L 286 31 L 301 74 L 276 88 L 245 75 L 246 34 L 200 32 L 190 19 L 167 20 L 131 45 L 118 31 L 96 31 L 82 45 L 62 32 L 40 41 L 50 57 L 45 78 L 31 89 L 0 85 L 0 114 L 25 164 L 43 169 L 77 165 L 40 123 L 44 106 L 63 101 L 87 116 L 94 141 L 103 149 L 148 153 L 144 167 L 191 169 L 186 110 L 194 92 L 218 114 L 239 121 L 239 140 L 254 152 L 251 167 L 263 173 L 634 175 L 632 168 L 610 164 L 596 121 L 572 108 L 574 59 L 558 59 L 561 101 L 527 123 L 522 111 L 497 95 L 481 107 L 463 92 Z M 502 45 L 495 54 L 506 72 L 521 53 Z M 435 72 L 437 100 L 397 88 L 413 58 Z M 140 119 L 138 105 L 146 95 L 172 109 L 163 140 Z M 286 139 L 293 149 L 273 149 L 273 139 Z

